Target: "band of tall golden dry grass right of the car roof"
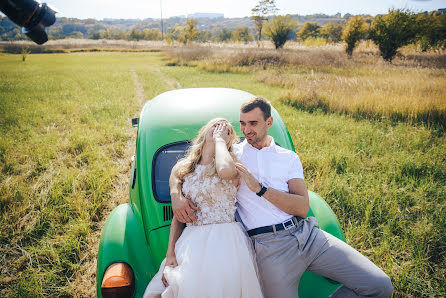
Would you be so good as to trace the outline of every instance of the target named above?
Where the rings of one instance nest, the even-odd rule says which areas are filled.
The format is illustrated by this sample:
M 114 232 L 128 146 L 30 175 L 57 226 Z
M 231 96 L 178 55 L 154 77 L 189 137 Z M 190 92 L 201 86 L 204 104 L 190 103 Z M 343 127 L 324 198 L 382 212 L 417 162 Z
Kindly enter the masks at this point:
M 281 100 L 299 109 L 446 128 L 445 70 L 314 67 L 263 71 L 257 79 L 287 88 Z

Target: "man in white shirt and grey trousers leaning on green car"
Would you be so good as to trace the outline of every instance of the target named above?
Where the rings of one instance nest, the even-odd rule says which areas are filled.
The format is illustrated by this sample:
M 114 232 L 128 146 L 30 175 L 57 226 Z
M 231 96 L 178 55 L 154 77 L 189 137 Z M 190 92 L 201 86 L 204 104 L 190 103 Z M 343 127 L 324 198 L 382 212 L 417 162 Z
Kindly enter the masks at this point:
M 390 297 L 389 277 L 358 251 L 317 228 L 309 209 L 302 164 L 296 153 L 268 136 L 271 104 L 255 97 L 240 109 L 245 140 L 234 146 L 244 183 L 237 193 L 237 213 L 254 243 L 265 297 L 297 297 L 299 280 L 310 271 L 343 285 L 332 297 Z M 196 207 L 174 187 L 172 209 L 182 222 L 195 221 Z

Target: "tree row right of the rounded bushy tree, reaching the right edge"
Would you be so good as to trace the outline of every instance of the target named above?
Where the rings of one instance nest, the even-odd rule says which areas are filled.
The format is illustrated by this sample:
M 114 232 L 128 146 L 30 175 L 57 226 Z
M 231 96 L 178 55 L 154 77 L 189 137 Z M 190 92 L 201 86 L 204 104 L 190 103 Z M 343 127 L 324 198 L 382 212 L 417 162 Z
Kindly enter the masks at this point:
M 383 59 L 391 62 L 397 50 L 408 44 L 416 44 L 423 52 L 446 48 L 446 14 L 439 11 L 415 14 L 408 9 L 391 9 L 375 18 L 352 16 L 344 24 L 328 23 L 321 27 L 308 22 L 298 32 L 300 40 L 318 37 L 331 42 L 344 41 L 349 56 L 353 55 L 359 41 L 372 40 Z

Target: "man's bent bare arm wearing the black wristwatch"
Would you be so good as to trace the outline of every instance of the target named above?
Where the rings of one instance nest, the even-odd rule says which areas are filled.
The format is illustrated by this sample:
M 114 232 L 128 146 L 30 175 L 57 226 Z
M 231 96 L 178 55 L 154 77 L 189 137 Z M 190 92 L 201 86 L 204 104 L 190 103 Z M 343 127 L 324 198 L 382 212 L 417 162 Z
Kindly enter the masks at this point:
M 237 163 L 236 167 L 249 189 L 258 193 L 262 187 L 257 178 L 241 163 Z M 286 193 L 270 187 L 262 197 L 288 214 L 306 217 L 310 201 L 304 180 L 298 178 L 288 180 L 288 189 L 289 193 Z

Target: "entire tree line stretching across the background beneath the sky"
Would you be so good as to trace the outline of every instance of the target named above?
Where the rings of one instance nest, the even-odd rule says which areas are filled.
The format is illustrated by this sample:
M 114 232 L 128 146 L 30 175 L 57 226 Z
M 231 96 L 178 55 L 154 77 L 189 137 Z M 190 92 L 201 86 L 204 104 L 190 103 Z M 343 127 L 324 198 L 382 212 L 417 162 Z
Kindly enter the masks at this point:
M 242 26 L 227 27 L 203 25 L 202 20 L 172 18 L 166 21 L 161 34 L 159 21 L 138 22 L 128 20 L 99 22 L 94 19 L 74 22 L 76 19 L 60 18 L 55 26 L 48 29 L 50 39 L 91 38 L 115 40 L 161 40 L 167 43 L 190 42 L 250 42 L 269 39 L 276 49 L 282 48 L 288 40 L 306 42 L 323 40 L 328 43 L 345 42 L 346 53 L 353 51 L 361 40 L 372 40 L 379 48 L 383 59 L 392 61 L 398 48 L 416 44 L 421 51 L 446 47 L 446 13 L 444 10 L 414 13 L 408 9 L 391 9 L 387 14 L 377 15 L 315 15 L 313 18 L 331 20 L 306 21 L 299 24 L 298 17 L 275 15 L 278 9 L 274 0 L 260 0 L 252 9 L 251 20 L 239 19 Z M 79 21 L 79 20 L 77 20 Z M 169 23 L 170 21 L 170 23 Z M 212 20 L 211 20 L 212 21 Z M 221 21 L 221 20 L 220 20 Z M 223 24 L 225 24 L 223 22 Z M 202 29 L 203 27 L 209 29 Z M 2 40 L 26 39 L 20 30 L 6 17 L 0 17 Z

